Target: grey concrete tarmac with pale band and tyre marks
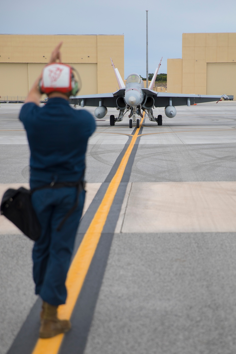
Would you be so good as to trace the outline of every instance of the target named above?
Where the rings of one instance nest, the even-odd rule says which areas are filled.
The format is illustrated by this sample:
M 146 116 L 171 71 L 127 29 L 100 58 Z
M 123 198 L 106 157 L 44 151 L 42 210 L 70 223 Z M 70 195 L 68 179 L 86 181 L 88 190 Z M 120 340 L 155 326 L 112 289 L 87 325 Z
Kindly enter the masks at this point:
M 0 194 L 28 183 L 20 108 L 0 108 Z M 156 108 L 162 126 L 144 118 L 60 354 L 235 352 L 235 112 L 236 102 L 222 101 L 177 107 L 172 119 Z M 88 143 L 76 247 L 135 131 L 128 118 L 110 127 L 110 114 Z M 17 343 L 22 325 L 38 321 L 33 242 L 2 216 L 0 242 L 0 354 L 27 354 Z

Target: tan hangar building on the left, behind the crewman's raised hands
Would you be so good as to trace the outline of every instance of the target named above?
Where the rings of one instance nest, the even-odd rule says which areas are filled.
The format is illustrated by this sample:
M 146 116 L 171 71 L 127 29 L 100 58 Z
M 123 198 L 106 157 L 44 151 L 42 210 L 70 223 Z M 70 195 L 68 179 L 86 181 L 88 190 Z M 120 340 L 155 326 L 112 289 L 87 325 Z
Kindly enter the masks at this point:
M 110 57 L 124 76 L 123 35 L 0 34 L 0 96 L 26 97 L 53 48 L 63 41 L 62 61 L 80 73 L 81 95 L 114 92 L 117 80 Z

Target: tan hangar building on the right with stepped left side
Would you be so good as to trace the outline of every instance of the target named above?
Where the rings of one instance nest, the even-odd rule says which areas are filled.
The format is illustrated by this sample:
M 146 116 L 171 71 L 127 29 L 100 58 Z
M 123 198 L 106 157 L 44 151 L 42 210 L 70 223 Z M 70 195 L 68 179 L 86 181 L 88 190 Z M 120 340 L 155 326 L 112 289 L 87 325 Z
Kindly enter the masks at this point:
M 236 99 L 236 33 L 183 33 L 182 59 L 167 59 L 167 90 Z

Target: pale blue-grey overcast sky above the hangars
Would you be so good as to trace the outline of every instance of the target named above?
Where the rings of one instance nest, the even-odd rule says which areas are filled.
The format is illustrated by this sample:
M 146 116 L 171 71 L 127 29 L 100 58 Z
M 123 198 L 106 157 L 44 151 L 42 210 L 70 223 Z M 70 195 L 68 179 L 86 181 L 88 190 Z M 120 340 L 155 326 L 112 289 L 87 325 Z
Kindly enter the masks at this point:
M 0 6 L 3 34 L 124 34 L 125 77 L 146 73 L 146 11 L 149 73 L 163 56 L 182 57 L 182 33 L 236 32 L 235 0 L 6 0 Z M 119 68 L 118 68 L 119 69 Z

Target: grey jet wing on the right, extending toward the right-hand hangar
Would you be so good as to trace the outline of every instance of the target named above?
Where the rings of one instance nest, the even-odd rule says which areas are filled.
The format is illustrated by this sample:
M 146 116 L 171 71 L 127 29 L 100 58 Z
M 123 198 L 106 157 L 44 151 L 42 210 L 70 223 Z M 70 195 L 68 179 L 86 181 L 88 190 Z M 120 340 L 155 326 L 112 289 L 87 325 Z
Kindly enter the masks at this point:
M 155 107 L 166 107 L 169 104 L 169 98 L 172 99 L 173 106 L 186 105 L 188 99 L 190 104 L 219 101 L 222 96 L 219 95 L 194 95 L 187 93 L 169 93 L 156 92 L 150 89 L 142 89 L 146 95 L 154 98 Z

